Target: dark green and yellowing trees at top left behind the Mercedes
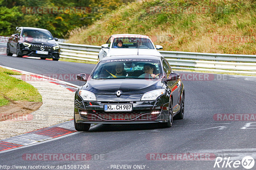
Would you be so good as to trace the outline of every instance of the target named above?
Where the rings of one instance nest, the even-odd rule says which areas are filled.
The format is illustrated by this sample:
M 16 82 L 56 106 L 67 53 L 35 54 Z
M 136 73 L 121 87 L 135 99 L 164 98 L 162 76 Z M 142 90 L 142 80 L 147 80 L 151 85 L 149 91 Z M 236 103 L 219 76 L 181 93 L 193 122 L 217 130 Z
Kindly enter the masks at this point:
M 69 30 L 91 25 L 102 15 L 134 0 L 0 0 L 0 36 L 13 34 L 16 26 L 38 27 L 62 38 Z M 86 12 L 29 13 L 33 7 L 85 7 Z

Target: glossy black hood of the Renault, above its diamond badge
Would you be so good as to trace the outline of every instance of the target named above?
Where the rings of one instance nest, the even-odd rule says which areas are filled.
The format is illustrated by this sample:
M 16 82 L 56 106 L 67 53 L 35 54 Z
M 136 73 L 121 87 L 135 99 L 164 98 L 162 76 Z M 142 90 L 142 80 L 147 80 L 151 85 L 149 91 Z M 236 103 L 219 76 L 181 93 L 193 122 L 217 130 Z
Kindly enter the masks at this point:
M 82 87 L 84 90 L 91 91 L 94 94 L 115 94 L 121 90 L 123 94 L 143 94 L 150 90 L 161 89 L 162 80 L 140 80 L 140 79 L 122 79 L 122 80 L 95 80 L 91 79 Z

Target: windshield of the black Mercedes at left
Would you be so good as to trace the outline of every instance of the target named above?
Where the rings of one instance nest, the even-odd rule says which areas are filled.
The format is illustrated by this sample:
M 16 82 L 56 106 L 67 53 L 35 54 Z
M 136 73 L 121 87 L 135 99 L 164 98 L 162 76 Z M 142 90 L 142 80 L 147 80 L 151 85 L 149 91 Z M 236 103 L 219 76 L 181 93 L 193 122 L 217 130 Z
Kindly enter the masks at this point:
M 22 37 L 53 39 L 50 32 L 38 30 L 23 30 Z

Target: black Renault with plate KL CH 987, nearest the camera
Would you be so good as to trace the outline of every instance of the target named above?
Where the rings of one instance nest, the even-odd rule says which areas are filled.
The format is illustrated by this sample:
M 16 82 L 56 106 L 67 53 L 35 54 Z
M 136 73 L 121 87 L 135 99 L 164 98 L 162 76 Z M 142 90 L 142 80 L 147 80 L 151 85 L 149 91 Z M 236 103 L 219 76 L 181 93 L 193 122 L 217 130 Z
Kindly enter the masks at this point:
M 164 57 L 123 55 L 102 59 L 75 94 L 74 124 L 159 123 L 171 127 L 184 117 L 184 86 Z

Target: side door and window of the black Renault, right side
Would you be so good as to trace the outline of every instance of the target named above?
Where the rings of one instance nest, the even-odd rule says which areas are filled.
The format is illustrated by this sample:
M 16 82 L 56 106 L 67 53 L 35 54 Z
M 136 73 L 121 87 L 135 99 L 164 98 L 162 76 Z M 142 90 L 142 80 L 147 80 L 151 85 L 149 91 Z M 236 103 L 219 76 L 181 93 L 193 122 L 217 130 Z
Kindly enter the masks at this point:
M 170 73 L 172 73 L 171 67 L 166 60 L 162 60 L 163 68 L 164 68 L 164 73 L 166 74 L 166 78 L 169 77 Z M 174 80 L 174 81 L 168 81 L 167 87 L 172 90 L 172 97 L 173 97 L 173 113 L 179 110 L 179 104 L 178 104 L 178 99 L 179 99 L 179 80 Z

